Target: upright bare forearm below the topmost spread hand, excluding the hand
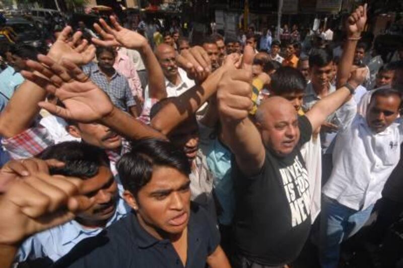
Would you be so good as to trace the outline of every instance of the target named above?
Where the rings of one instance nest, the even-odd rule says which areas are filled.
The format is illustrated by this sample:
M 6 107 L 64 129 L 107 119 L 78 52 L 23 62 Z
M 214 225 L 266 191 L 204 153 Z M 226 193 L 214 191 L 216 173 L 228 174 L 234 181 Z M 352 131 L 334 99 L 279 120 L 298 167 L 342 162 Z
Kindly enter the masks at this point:
M 150 98 L 158 100 L 166 98 L 167 93 L 165 90 L 164 73 L 162 72 L 160 63 L 154 55 L 153 50 L 150 45 L 146 43 L 139 52 L 142 56 L 149 77 L 148 87 Z

